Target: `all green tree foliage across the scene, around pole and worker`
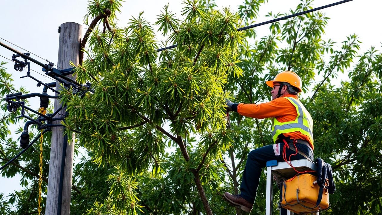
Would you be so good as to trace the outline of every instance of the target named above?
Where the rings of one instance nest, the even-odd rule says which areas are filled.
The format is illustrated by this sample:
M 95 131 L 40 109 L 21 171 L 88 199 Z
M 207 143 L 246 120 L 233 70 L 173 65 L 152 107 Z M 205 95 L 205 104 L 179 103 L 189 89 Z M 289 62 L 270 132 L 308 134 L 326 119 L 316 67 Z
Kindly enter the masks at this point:
M 381 53 L 374 47 L 359 53 L 356 34 L 324 41 L 329 18 L 319 11 L 272 23 L 267 36 L 236 31 L 256 20 L 263 2 L 246 0 L 235 13 L 215 10 L 214 1 L 186 0 L 178 13 L 165 5 L 154 24 L 140 13 L 127 27 L 117 23 L 120 1 L 89 2 L 86 20 L 106 9 L 110 15 L 107 25 L 91 29 L 86 59 L 76 66 L 77 80 L 91 82 L 94 93 L 61 92 L 66 134 L 75 132 L 76 146 L 86 150 L 76 149 L 72 213 L 241 214 L 222 193 L 239 192 L 249 151 L 271 143 L 270 121 L 233 113 L 227 129 L 225 98 L 269 101 L 264 82 L 292 70 L 303 80 L 300 99 L 314 120 L 315 157 L 334 170 L 337 192 L 327 213 L 381 214 Z M 311 3 L 302 1 L 288 14 Z M 154 28 L 168 40 L 155 41 Z M 156 51 L 168 44 L 178 47 Z M 15 92 L 10 75 L 0 71 L 2 96 Z M 19 151 L 7 127 L 20 123 L 16 115 L 0 121 L 0 164 Z M 46 164 L 49 145 L 45 135 Z M 37 153 L 29 150 L 2 172 L 21 174 L 24 188 L 8 199 L 0 195 L 0 212 L 36 211 Z M 264 176 L 251 214 L 265 212 Z M 274 209 L 277 199 L 275 193 Z

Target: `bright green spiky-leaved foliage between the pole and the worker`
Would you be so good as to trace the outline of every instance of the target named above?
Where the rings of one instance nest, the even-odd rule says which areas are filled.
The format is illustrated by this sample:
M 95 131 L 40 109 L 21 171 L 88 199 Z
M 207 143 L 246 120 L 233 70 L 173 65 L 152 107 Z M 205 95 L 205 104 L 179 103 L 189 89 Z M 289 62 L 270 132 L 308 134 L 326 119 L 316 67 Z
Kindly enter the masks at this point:
M 89 18 L 110 4 L 89 3 Z M 119 1 L 112 5 L 112 13 L 119 11 Z M 118 166 L 119 181 L 109 177 L 110 201 L 118 202 L 115 210 L 140 210 L 136 196 L 124 194 L 126 174 L 151 169 L 153 175 L 163 177 L 175 168 L 175 163 L 168 163 L 174 155 L 182 157 L 179 162 L 187 167 L 188 180 L 196 183 L 199 193 L 204 192 L 201 182 L 208 184 L 217 177 L 213 161 L 231 146 L 233 131 L 226 129 L 224 109 L 229 94 L 223 88 L 229 76 L 242 74 L 237 66 L 238 46 L 243 41 L 243 34 L 236 31 L 239 16 L 228 8 L 207 10 L 197 0 L 187 0 L 184 5 L 183 21 L 176 19 L 167 4 L 154 23 L 168 34 L 170 43 L 179 44 L 159 56 L 153 28 L 144 13 L 133 17 L 124 29 L 109 16 L 111 31 L 95 27 L 87 42 L 86 60 L 76 66 L 77 80 L 91 82 L 94 93 L 62 92 L 69 113 L 66 132 L 79 131 L 79 144 L 92 151 L 97 165 Z M 187 140 L 195 135 L 204 138 L 190 145 Z M 168 147 L 179 151 L 169 155 L 165 153 Z M 125 203 L 120 198 L 128 199 L 130 205 L 121 207 Z M 89 214 L 97 208 L 102 205 L 95 203 Z M 210 210 L 208 202 L 204 208 Z

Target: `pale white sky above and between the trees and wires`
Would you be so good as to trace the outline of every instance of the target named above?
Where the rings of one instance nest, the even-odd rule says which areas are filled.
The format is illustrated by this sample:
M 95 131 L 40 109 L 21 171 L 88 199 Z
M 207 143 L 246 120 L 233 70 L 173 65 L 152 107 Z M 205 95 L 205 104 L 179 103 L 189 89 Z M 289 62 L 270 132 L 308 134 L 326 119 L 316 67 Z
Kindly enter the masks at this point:
M 316 0 L 313 7 L 337 1 Z M 154 23 L 157 15 L 160 14 L 160 10 L 168 2 L 170 3 L 170 10 L 180 16 L 182 8 L 180 0 L 126 0 L 126 2 L 123 2 L 121 14 L 117 16 L 120 20 L 118 21 L 119 26 L 127 26 L 131 16 L 138 16 L 140 11 L 145 12 L 144 17 L 149 23 Z M 229 6 L 231 9 L 236 10 L 237 6 L 244 0 L 216 0 L 215 2 L 220 8 Z M 268 3 L 261 6 L 256 22 L 269 20 L 269 17 L 265 17 L 265 15 L 270 11 L 272 13 L 285 13 L 290 8 L 294 9 L 298 3 L 298 0 L 269 0 Z M 58 26 L 65 22 L 82 24 L 83 17 L 86 15 L 86 6 L 86 0 L 0 0 L 0 37 L 39 55 L 43 59 L 49 59 L 51 62 L 56 63 L 59 38 Z M 377 50 L 380 50 L 380 42 L 382 42 L 380 8 L 382 8 L 382 1 L 380 0 L 354 0 L 322 10 L 331 18 L 325 30 L 324 40 L 331 38 L 333 41 L 340 43 L 346 39 L 346 36 L 356 33 L 363 42 L 361 51 L 366 51 L 371 46 L 376 46 Z M 82 26 L 84 34 L 87 26 L 84 24 Z M 259 37 L 265 36 L 269 33 L 269 25 L 260 26 L 256 31 Z M 163 39 L 160 34 L 157 35 L 159 36 L 157 37 L 158 41 Z M 21 50 L 3 39 L 0 39 L 0 42 Z M 9 50 L 0 47 L 0 55 L 10 59 L 12 54 Z M 43 59 L 32 54 L 31 57 L 44 62 Z M 0 61 L 2 60 L 7 61 L 0 57 Z M 6 67 L 8 68 L 7 71 L 13 74 L 14 83 L 17 87 L 26 86 L 31 92 L 40 93 L 42 91 L 42 88 L 36 87 L 36 83 L 31 79 L 19 79 L 19 77 L 26 74 L 26 69 L 23 72 L 15 71 L 12 63 L 9 63 Z M 37 72 L 41 71 L 41 68 L 33 63 L 31 68 Z M 52 80 L 35 72 L 31 74 L 44 82 L 52 82 Z M 37 109 L 39 100 L 29 99 L 29 101 L 31 101 L 30 106 Z M 4 192 L 7 195 L 15 189 L 20 189 L 19 180 L 19 176 L 12 179 L 0 177 L 0 193 Z

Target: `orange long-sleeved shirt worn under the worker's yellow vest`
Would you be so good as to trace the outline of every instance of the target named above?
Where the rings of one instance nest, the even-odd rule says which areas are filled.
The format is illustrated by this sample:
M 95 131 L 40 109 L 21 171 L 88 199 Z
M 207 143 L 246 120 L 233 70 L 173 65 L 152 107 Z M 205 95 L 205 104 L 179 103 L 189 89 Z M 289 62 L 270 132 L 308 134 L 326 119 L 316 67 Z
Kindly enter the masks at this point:
M 290 103 L 290 101 L 283 97 L 292 97 L 298 99 L 295 95 L 282 95 L 270 102 L 261 104 L 244 104 L 240 103 L 237 106 L 237 112 L 240 115 L 248 116 L 257 119 L 276 117 L 279 122 L 289 122 L 294 121 L 297 117 L 297 111 L 295 106 Z M 312 149 L 314 149 L 313 144 L 309 140 L 309 137 L 303 135 L 301 132 L 290 132 L 283 134 L 285 137 L 290 137 L 291 139 L 301 139 L 309 142 Z

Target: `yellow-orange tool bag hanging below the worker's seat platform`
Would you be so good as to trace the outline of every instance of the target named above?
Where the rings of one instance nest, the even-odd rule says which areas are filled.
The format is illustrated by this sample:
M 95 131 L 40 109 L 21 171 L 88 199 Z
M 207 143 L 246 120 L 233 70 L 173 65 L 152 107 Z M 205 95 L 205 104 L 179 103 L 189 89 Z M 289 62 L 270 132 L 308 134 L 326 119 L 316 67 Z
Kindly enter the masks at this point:
M 283 182 L 281 207 L 295 213 L 314 213 L 330 207 L 329 193 L 317 184 L 317 177 L 301 174 Z

